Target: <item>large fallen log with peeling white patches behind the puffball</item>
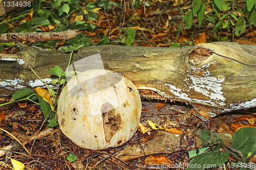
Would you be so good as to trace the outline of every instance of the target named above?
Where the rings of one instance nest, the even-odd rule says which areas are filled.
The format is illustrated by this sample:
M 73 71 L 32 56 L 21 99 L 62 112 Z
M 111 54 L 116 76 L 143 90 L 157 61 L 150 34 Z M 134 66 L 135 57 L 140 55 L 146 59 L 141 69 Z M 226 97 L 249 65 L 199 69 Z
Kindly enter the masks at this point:
M 15 55 L 0 54 L 0 93 L 46 82 L 55 65 L 65 70 L 70 54 L 22 45 Z M 92 58 L 100 53 L 101 60 Z M 201 43 L 180 48 L 90 46 L 76 51 L 71 68 L 102 68 L 132 80 L 141 96 L 191 104 L 201 118 L 256 106 L 256 46 L 238 43 Z M 78 62 L 76 62 L 78 61 Z M 80 63 L 80 64 L 79 64 Z M 82 63 L 82 64 L 81 64 Z M 39 84 L 38 84 L 39 83 Z M 43 84 L 41 84 L 43 85 Z M 143 91 L 144 90 L 144 91 Z M 147 93 L 152 90 L 155 93 Z

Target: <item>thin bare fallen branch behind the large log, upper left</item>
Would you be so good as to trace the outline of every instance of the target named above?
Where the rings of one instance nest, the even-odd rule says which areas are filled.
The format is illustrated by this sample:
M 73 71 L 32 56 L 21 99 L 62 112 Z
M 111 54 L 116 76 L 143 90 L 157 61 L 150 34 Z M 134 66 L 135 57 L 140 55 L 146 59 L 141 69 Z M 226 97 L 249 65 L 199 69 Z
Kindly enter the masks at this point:
M 31 33 L 6 33 L 0 34 L 0 42 L 30 41 L 46 42 L 49 40 L 67 40 L 77 36 L 78 31 L 68 30 L 63 32 L 31 32 Z

